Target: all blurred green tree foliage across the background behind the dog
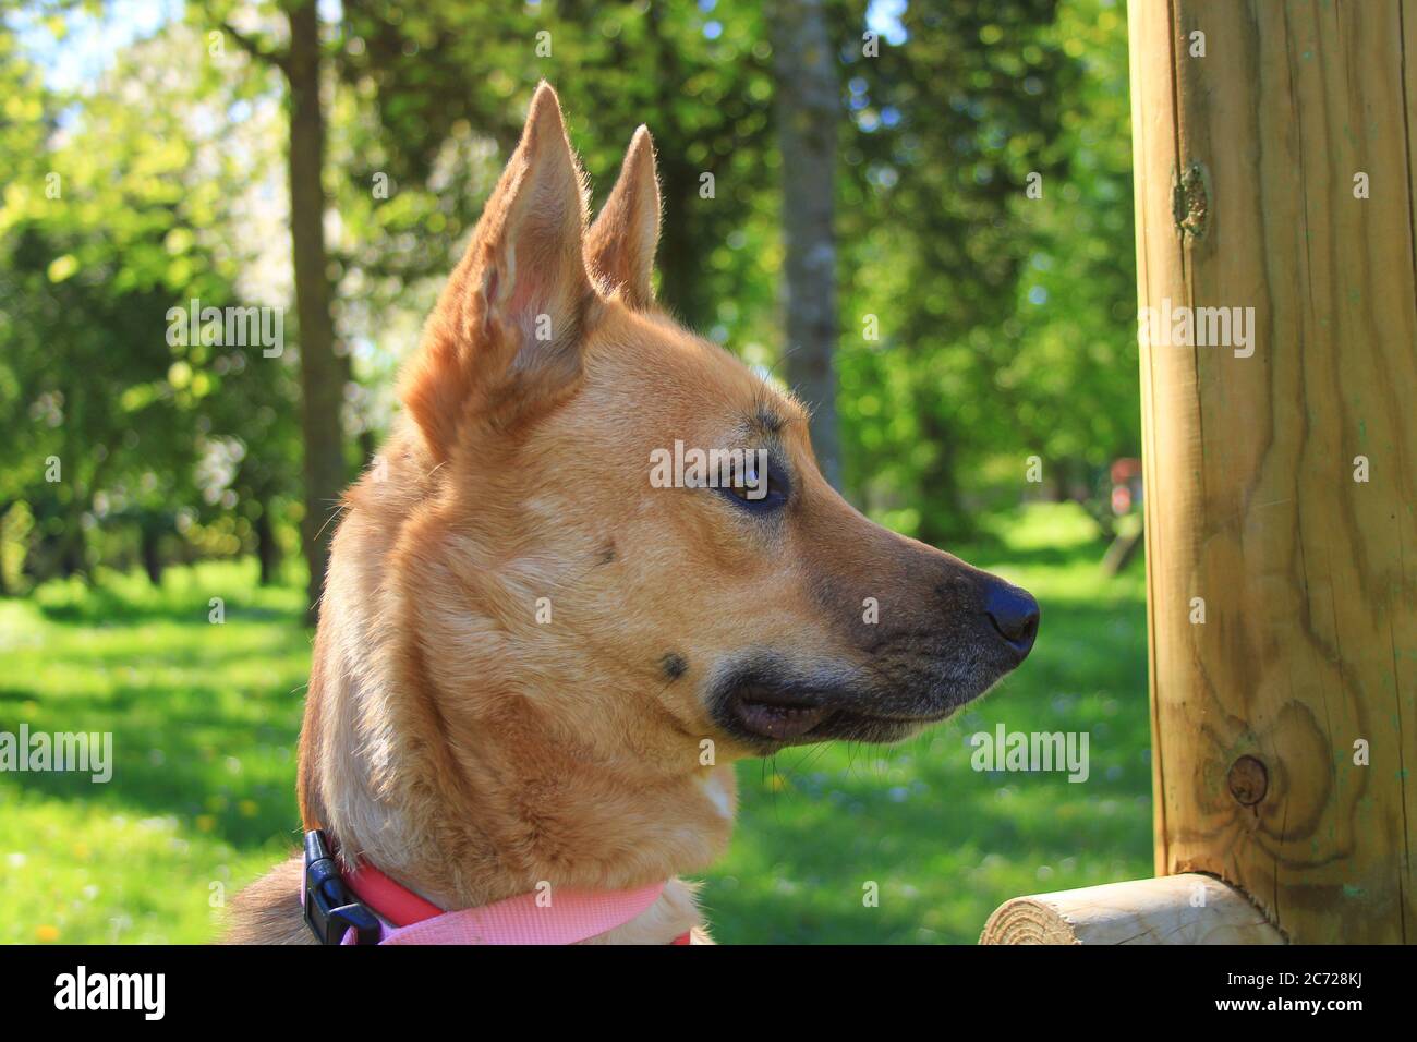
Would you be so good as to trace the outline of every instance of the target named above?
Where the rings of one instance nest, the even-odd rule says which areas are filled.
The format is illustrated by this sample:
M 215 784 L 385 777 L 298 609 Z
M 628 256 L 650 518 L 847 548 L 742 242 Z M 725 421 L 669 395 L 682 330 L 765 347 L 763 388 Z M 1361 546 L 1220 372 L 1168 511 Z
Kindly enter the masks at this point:
M 598 198 L 633 128 L 652 128 L 662 299 L 781 371 L 789 186 L 758 4 L 350 0 L 341 11 L 326 33 L 326 189 L 351 461 L 388 422 L 397 363 L 543 77 Z M 863 54 L 877 24 L 864 0 L 829 13 L 843 98 L 847 492 L 891 526 L 948 543 L 976 534 L 981 509 L 1019 498 L 1033 455 L 1047 491 L 1090 491 L 1111 459 L 1139 452 L 1119 4 L 920 0 L 879 57 Z M 0 510 L 30 503 L 35 574 L 126 553 L 122 539 L 103 546 L 109 519 L 136 520 L 149 542 L 169 533 L 169 554 L 179 523 L 222 533 L 194 551 L 232 539 L 249 550 L 258 523 L 275 530 L 268 542 L 292 539 L 293 352 L 272 362 L 162 339 L 166 309 L 191 298 L 289 303 L 283 81 L 268 57 L 282 23 L 273 1 L 194 6 L 77 96 L 48 91 L 0 33 L 13 58 L 0 72 L 0 146 L 14 157 L 0 204 L 0 434 L 13 448 Z M 45 197 L 51 173 L 62 200 Z M 1026 193 L 1030 174 L 1041 198 Z M 880 339 L 867 339 L 869 316 Z M 50 455 L 64 461 L 62 488 L 43 481 Z M 88 553 L 75 543 L 85 516 Z

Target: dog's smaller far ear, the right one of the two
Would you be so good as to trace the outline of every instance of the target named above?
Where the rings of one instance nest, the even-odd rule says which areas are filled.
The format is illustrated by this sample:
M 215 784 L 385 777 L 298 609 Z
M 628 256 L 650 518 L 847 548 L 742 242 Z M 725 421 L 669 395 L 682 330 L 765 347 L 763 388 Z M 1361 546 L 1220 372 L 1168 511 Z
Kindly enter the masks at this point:
M 655 142 L 640 126 L 631 139 L 619 180 L 585 241 L 585 265 L 606 292 L 619 291 L 631 308 L 655 301 L 650 274 L 659 245 L 659 176 Z

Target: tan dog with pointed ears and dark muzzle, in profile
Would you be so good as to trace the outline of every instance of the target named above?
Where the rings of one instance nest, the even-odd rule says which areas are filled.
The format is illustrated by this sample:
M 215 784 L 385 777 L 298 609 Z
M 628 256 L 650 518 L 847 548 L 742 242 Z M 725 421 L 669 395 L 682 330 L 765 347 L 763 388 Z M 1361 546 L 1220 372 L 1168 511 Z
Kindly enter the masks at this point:
M 707 941 L 679 875 L 728 844 L 734 761 L 944 720 L 1023 661 L 1039 608 L 857 513 L 803 407 L 656 305 L 646 128 L 594 224 L 587 196 L 541 84 L 343 503 L 300 815 L 336 879 L 368 866 L 435 910 L 638 893 L 574 940 Z M 765 466 L 656 486 L 676 442 Z M 316 940 L 307 863 L 238 895 L 228 939 Z

